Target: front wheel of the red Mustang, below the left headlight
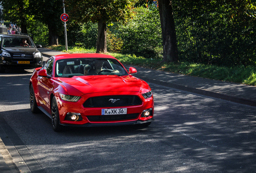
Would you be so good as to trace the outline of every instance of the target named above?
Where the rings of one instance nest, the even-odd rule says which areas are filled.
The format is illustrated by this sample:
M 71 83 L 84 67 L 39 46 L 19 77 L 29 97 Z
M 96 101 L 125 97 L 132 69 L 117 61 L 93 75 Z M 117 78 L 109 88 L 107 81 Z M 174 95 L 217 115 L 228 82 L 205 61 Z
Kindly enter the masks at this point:
M 62 131 L 64 126 L 60 125 L 58 104 L 56 102 L 55 97 L 52 98 L 52 102 L 51 102 L 51 115 L 52 115 L 52 127 L 54 131 L 56 132 Z

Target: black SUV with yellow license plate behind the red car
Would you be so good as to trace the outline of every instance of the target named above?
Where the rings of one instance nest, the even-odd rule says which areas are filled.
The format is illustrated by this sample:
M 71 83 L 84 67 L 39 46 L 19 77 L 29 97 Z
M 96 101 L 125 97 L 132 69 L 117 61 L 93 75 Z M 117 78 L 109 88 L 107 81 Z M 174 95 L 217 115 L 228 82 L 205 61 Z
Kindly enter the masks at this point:
M 37 50 L 42 46 L 35 45 L 29 36 L 0 34 L 0 42 L 0 72 L 8 67 L 31 69 L 42 66 L 43 56 Z

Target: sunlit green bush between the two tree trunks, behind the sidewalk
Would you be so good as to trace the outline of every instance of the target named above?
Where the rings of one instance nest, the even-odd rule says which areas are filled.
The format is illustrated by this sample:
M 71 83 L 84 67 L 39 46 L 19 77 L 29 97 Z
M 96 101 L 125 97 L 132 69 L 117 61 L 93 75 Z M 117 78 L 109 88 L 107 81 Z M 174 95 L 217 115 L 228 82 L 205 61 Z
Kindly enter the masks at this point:
M 122 40 L 122 52 L 144 56 L 146 58 L 163 58 L 161 25 L 157 7 L 134 9 L 134 17 L 127 24 L 115 23 L 109 26 L 116 40 Z M 111 40 L 110 40 L 111 41 Z M 112 41 L 113 42 L 113 41 Z

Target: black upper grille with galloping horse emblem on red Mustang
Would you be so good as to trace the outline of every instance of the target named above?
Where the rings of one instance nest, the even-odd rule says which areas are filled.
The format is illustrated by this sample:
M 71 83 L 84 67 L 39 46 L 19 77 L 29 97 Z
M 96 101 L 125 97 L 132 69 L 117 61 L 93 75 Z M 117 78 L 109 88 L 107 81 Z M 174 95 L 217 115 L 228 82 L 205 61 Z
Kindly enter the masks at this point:
M 135 95 L 115 95 L 91 97 L 85 101 L 84 107 L 120 107 L 141 105 L 142 101 Z

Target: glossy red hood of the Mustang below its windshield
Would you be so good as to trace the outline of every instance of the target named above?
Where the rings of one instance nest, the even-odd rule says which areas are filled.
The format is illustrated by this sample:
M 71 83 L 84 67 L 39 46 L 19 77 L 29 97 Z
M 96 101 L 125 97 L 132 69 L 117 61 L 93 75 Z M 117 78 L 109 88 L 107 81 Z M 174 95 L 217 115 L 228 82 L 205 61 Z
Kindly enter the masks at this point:
M 72 78 L 56 78 L 56 81 L 66 88 L 68 95 L 75 96 L 110 91 L 146 93 L 150 90 L 147 82 L 131 75 L 73 76 Z

